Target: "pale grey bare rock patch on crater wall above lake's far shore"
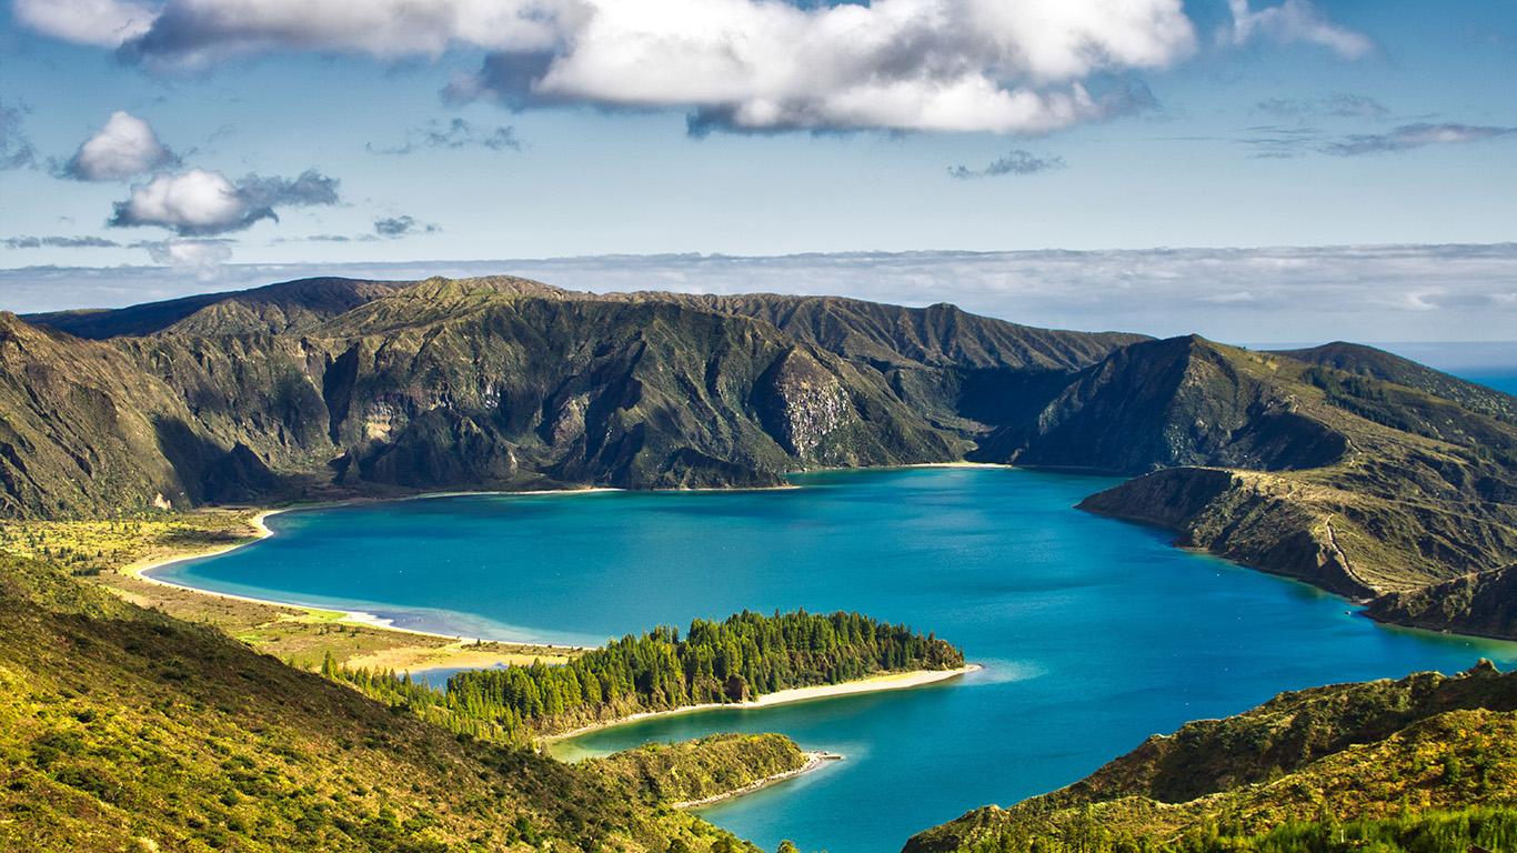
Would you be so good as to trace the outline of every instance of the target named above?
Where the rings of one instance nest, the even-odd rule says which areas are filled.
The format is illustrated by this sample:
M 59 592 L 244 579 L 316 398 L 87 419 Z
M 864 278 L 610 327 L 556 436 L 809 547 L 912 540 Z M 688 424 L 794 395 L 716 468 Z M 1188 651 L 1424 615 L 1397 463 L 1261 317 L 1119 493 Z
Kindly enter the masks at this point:
M 765 430 L 798 457 L 816 457 L 828 436 L 859 417 L 837 376 L 802 349 L 781 355 L 762 382 Z

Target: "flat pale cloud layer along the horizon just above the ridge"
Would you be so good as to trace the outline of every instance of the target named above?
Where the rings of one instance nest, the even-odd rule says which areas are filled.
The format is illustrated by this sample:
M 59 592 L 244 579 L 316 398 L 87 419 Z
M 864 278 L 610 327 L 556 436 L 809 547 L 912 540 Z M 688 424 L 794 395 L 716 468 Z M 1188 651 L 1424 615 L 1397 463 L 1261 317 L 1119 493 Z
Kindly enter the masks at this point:
M 1517 243 L 1112 252 L 657 255 L 404 264 L 23 267 L 0 308 L 114 307 L 317 275 L 525 275 L 576 290 L 812 293 L 954 302 L 1019 323 L 1230 342 L 1512 340 Z

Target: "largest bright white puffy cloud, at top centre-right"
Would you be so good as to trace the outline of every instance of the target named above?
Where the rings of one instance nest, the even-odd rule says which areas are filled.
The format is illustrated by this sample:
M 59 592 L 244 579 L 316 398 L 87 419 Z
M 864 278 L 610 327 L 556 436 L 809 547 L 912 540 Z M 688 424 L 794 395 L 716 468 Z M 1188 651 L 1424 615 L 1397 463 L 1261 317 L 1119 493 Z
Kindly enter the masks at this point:
M 487 65 L 475 83 L 507 100 L 689 105 L 743 131 L 1036 134 L 1107 114 L 1091 74 L 1165 67 L 1192 44 L 1174 0 L 617 0 L 540 76 Z

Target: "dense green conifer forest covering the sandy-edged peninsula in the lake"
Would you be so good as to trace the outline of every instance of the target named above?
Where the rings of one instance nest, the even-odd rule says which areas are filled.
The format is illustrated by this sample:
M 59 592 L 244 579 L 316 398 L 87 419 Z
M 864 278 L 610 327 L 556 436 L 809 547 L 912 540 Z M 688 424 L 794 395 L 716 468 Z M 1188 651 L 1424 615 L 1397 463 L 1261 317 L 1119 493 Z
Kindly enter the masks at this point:
M 933 634 L 859 613 L 801 610 L 696 619 L 684 636 L 671 627 L 628 634 L 557 666 L 534 662 L 464 671 L 449 677 L 443 691 L 408 672 L 349 669 L 332 659 L 322 671 L 451 732 L 525 744 L 633 715 L 963 666 L 963 653 Z

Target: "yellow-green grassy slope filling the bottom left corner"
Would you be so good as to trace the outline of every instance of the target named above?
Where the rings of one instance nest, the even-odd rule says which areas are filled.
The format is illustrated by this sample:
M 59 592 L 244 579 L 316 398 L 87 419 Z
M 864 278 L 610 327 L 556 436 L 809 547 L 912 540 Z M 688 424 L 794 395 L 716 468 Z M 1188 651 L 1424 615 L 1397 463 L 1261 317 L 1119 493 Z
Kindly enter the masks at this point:
M 17 559 L 0 759 L 17 850 L 742 847 L 614 779 L 448 736 Z

